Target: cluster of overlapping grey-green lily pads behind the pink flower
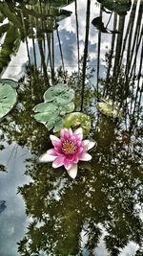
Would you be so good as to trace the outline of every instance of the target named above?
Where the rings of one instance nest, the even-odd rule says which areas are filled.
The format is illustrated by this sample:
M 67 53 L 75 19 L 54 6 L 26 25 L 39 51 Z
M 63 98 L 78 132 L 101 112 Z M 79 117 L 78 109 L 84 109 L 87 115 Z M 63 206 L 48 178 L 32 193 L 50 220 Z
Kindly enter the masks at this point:
M 60 130 L 64 123 L 62 116 L 74 110 L 74 91 L 65 84 L 51 86 L 44 94 L 44 103 L 35 105 L 33 117 L 49 130 Z

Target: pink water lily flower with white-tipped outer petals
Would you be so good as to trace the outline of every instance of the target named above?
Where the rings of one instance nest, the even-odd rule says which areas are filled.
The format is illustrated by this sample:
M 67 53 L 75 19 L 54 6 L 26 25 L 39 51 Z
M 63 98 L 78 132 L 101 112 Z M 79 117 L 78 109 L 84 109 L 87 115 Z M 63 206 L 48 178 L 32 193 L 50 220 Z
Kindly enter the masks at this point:
M 40 162 L 52 162 L 53 168 L 64 166 L 68 174 L 75 178 L 77 175 L 78 161 L 90 161 L 92 155 L 87 151 L 91 150 L 94 142 L 83 140 L 82 128 L 74 132 L 72 128 L 61 129 L 60 138 L 50 135 L 53 149 L 47 151 L 39 158 Z

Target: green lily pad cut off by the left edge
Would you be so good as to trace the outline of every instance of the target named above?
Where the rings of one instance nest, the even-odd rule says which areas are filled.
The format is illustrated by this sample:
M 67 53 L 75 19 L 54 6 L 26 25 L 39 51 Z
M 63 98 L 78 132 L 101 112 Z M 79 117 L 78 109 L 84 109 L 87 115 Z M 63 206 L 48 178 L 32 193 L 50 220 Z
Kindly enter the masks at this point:
M 16 81 L 0 80 L 0 119 L 6 116 L 17 101 L 17 92 L 13 88 Z

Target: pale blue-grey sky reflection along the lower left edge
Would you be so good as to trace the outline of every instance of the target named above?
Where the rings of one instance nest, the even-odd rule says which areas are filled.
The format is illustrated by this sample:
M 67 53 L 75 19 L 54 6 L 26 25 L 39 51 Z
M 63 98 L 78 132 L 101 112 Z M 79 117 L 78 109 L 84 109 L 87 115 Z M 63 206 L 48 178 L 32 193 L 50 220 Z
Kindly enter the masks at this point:
M 7 208 L 0 213 L 0 255 L 16 256 L 16 243 L 23 238 L 28 225 L 24 201 L 17 194 L 17 187 L 30 181 L 24 175 L 24 161 L 30 153 L 15 143 L 4 146 L 5 150 L 0 152 L 0 163 L 8 167 L 8 173 L 0 172 L 0 200 L 6 200 Z

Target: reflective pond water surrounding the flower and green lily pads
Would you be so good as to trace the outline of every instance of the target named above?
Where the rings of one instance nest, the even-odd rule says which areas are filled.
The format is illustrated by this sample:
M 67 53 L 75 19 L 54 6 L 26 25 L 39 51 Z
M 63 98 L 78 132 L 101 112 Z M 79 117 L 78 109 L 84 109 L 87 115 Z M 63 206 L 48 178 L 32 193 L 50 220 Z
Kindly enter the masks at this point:
M 18 81 L 0 122 L 0 256 L 142 256 L 143 1 L 1 0 L 0 74 Z M 92 123 L 75 179 L 38 161 L 52 129 L 33 106 L 57 83 Z

